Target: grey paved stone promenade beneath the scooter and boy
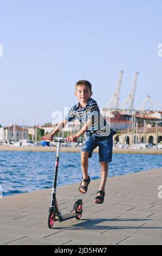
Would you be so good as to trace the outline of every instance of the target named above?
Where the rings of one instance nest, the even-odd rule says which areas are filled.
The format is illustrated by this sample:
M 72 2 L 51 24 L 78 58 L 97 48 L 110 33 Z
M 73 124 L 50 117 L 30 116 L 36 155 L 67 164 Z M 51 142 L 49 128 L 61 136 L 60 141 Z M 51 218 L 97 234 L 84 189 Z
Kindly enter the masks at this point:
M 59 209 L 70 212 L 83 199 L 83 215 L 47 227 L 51 189 L 0 199 L 1 245 L 161 245 L 162 168 L 108 179 L 104 204 L 94 203 L 99 180 L 88 192 L 78 184 L 58 187 Z

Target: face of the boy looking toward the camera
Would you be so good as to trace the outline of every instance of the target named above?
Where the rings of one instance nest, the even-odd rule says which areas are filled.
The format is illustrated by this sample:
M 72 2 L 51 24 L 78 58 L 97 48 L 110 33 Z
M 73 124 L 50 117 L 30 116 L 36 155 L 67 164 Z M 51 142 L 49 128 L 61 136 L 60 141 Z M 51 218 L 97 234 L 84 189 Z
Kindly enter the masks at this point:
M 85 86 L 85 84 L 82 84 L 77 87 L 77 90 L 74 93 L 74 95 L 77 96 L 81 105 L 82 105 L 82 103 L 84 105 L 86 102 L 88 102 L 89 98 L 92 95 L 92 92 L 90 92 L 90 89 L 88 88 L 88 86 Z

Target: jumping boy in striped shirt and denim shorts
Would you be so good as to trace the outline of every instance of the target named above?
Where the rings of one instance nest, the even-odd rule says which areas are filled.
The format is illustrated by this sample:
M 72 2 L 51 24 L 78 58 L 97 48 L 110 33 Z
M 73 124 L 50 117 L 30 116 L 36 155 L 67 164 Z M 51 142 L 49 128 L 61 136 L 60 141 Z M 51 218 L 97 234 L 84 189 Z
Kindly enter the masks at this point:
M 101 184 L 94 202 L 102 204 L 104 202 L 105 184 L 108 176 L 108 163 L 112 161 L 113 135 L 115 135 L 116 132 L 110 129 L 109 124 L 99 111 L 97 102 L 91 98 L 92 91 L 89 81 L 78 81 L 74 95 L 77 96 L 79 102 L 70 109 L 65 119 L 46 137 L 52 140 L 55 133 L 63 129 L 68 121 L 74 121 L 76 119 L 80 121 L 80 125 L 82 125 L 81 129 L 76 134 L 67 137 L 68 141 L 74 142 L 79 136 L 83 135 L 83 133 L 86 133 L 87 136 L 81 151 L 83 177 L 80 182 L 79 191 L 85 194 L 88 190 L 90 183 L 90 177 L 88 175 L 88 157 L 92 156 L 93 150 L 98 146 L 99 162 L 101 164 Z

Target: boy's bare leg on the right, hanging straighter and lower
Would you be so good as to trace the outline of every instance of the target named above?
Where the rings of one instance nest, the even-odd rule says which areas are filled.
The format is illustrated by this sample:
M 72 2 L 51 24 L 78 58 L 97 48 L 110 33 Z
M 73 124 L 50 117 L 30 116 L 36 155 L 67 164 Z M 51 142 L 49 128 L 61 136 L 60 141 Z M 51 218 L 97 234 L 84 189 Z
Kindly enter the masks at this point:
M 100 162 L 101 164 L 101 174 L 100 174 L 100 186 L 99 190 L 105 191 L 105 184 L 107 182 L 107 176 L 108 176 L 108 162 Z M 97 196 L 103 197 L 102 194 L 98 193 Z M 95 202 L 99 203 L 101 200 L 95 199 Z

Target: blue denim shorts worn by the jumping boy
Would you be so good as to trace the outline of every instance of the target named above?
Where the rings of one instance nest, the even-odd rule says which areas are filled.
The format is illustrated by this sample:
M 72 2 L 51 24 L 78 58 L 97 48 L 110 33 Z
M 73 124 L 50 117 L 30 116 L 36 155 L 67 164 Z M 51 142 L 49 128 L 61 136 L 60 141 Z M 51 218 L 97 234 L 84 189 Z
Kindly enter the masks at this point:
M 91 157 L 93 150 L 98 146 L 99 162 L 111 162 L 113 155 L 113 135 L 102 137 L 101 139 L 95 135 L 87 136 L 81 151 L 89 152 L 89 157 Z

